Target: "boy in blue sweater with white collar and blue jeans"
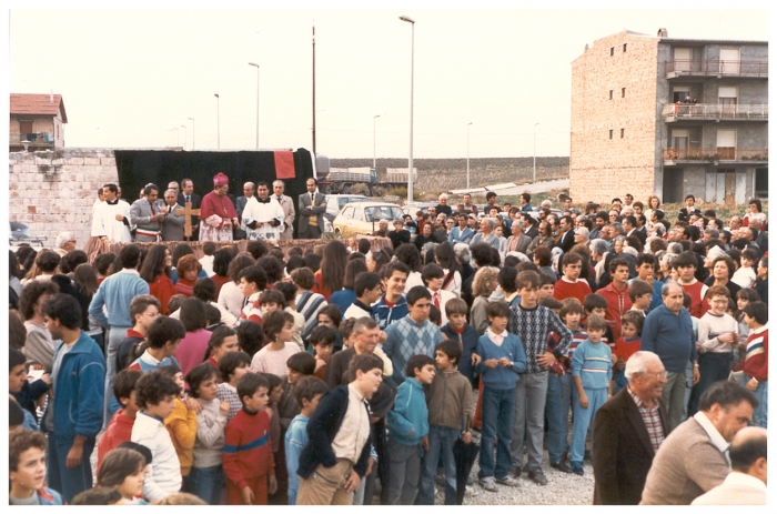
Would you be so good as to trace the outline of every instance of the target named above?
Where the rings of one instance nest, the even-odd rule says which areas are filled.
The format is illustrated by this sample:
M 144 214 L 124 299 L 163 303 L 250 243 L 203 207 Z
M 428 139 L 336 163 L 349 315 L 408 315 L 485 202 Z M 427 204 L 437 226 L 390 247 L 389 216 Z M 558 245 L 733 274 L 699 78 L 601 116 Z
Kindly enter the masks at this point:
M 477 372 L 483 381 L 483 431 L 481 433 L 480 483 L 486 491 L 498 491 L 496 483 L 517 485 L 509 476 L 509 444 L 513 441 L 515 384 L 518 373 L 526 371 L 526 351 L 521 337 L 507 332 L 509 306 L 492 302 L 486 308 L 488 329 L 477 341 L 481 363 Z M 494 437 L 497 440 L 494 465 Z M 496 481 L 494 481 L 496 476 Z

